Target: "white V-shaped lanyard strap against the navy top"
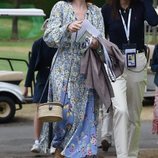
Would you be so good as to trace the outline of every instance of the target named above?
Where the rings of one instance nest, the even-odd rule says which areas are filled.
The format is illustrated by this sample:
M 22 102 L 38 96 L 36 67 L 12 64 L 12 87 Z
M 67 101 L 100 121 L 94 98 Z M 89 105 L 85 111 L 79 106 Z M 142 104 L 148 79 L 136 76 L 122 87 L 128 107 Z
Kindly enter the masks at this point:
M 125 30 L 126 38 L 127 38 L 127 41 L 129 42 L 132 9 L 129 10 L 127 26 L 126 26 L 125 20 L 124 20 L 124 18 L 122 16 L 121 10 L 119 10 L 119 12 L 120 12 L 120 15 L 121 15 L 121 20 L 122 20 L 123 27 L 124 27 L 124 30 Z

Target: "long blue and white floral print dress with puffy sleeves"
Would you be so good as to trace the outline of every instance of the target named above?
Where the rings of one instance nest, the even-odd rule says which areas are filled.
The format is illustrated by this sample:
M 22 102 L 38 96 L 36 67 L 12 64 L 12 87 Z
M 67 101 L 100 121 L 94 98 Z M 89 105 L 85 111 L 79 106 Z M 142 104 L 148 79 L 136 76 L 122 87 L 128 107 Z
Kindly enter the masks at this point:
M 88 3 L 85 14 L 104 36 L 103 18 L 100 9 Z M 67 26 L 76 20 L 71 3 L 57 2 L 50 15 L 44 40 L 50 46 L 58 47 L 52 61 L 49 79 L 48 100 L 63 104 L 63 120 L 53 123 L 52 146 L 61 148 L 68 158 L 83 158 L 97 154 L 96 120 L 99 105 L 93 89 L 85 87 L 85 77 L 80 74 L 80 60 L 83 50 L 73 44 Z M 48 123 L 41 134 L 41 147 L 48 148 Z

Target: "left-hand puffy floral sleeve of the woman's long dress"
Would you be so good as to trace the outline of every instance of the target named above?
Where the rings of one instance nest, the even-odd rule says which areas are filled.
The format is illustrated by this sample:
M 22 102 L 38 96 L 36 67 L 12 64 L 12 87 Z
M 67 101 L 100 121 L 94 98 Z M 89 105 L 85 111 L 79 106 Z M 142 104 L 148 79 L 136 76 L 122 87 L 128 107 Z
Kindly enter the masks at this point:
M 50 47 L 59 46 L 62 37 L 70 35 L 70 32 L 67 30 L 69 23 L 63 24 L 63 12 L 66 4 L 66 2 L 59 1 L 52 8 L 47 29 L 43 36 L 44 41 Z

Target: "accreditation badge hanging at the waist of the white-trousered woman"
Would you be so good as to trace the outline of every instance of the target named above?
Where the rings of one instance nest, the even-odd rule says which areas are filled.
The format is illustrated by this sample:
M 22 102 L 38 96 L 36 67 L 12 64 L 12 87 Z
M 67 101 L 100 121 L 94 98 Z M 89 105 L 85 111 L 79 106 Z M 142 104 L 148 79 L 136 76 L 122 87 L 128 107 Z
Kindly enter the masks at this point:
M 125 54 L 126 59 L 126 66 L 128 68 L 136 67 L 136 44 L 135 43 L 129 43 L 129 44 L 123 44 L 123 51 Z

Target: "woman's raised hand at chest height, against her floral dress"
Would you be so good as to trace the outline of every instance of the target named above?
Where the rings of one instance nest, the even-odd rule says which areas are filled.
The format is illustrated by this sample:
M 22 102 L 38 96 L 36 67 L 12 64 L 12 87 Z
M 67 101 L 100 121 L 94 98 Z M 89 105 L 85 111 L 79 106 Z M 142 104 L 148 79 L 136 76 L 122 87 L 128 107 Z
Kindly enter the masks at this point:
M 68 25 L 67 29 L 69 32 L 77 32 L 82 26 L 82 20 L 77 20 Z

